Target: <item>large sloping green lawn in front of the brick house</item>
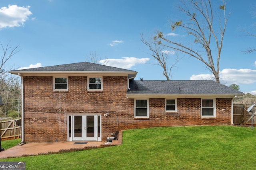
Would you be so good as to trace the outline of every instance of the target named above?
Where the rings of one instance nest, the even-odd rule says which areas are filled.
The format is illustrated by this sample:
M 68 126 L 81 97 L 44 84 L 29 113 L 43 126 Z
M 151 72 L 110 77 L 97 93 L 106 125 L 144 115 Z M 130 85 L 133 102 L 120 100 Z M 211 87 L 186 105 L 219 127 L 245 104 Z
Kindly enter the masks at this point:
M 115 147 L 4 159 L 30 170 L 253 170 L 256 129 L 234 126 L 158 127 L 123 131 Z

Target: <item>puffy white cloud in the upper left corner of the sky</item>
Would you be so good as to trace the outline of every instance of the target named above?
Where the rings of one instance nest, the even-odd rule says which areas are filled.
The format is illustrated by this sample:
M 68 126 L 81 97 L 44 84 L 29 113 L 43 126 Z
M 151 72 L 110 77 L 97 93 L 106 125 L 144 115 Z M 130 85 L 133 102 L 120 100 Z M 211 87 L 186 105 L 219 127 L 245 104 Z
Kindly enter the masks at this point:
M 8 5 L 0 8 L 0 29 L 5 27 L 20 27 L 32 14 L 30 6 Z

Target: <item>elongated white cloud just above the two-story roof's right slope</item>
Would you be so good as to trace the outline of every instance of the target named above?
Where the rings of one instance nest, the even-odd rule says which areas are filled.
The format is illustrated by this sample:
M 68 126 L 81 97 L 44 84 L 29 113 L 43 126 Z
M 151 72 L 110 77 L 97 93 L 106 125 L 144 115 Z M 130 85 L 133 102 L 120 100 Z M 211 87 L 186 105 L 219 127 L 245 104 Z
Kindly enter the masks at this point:
M 135 58 L 135 57 L 122 57 L 122 59 L 106 59 L 107 66 L 113 66 L 118 68 L 130 69 L 136 64 L 145 64 L 149 61 L 149 58 Z M 103 64 L 105 60 L 101 60 L 100 64 Z

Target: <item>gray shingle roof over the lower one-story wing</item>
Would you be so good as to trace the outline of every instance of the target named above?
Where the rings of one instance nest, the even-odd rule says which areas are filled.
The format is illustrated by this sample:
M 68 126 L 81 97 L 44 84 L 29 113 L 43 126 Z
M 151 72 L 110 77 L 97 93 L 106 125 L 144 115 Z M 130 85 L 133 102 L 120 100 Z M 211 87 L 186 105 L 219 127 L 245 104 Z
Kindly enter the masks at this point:
M 127 94 L 243 94 L 213 80 L 132 80 Z

